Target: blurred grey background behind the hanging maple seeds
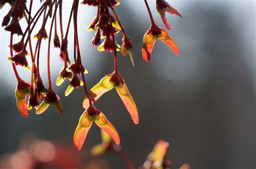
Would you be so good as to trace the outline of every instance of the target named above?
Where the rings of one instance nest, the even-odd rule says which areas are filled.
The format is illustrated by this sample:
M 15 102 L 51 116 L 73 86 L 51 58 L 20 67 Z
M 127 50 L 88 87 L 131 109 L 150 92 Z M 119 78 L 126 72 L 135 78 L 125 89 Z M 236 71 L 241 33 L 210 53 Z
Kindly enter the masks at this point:
M 96 106 L 118 130 L 123 150 L 137 168 L 159 139 L 170 143 L 168 158 L 172 168 L 179 168 L 184 163 L 196 169 L 255 168 L 255 1 L 168 2 L 183 15 L 181 19 L 166 13 L 172 28 L 169 33 L 176 40 L 180 55 L 177 57 L 166 44 L 158 41 L 149 63 L 141 55 L 143 36 L 150 26 L 144 1 L 121 1 L 116 7 L 134 46 L 135 67 L 131 66 L 129 57 L 118 55 L 120 73 L 139 110 L 139 124 L 133 124 L 115 90 L 104 94 Z M 34 4 L 35 12 L 39 2 Z M 69 17 L 71 5 L 71 1 L 64 2 L 64 18 Z M 149 5 L 158 26 L 164 27 L 155 1 L 149 1 Z M 9 9 L 10 6 L 5 5 L 0 10 L 1 22 Z M 87 32 L 86 28 L 96 15 L 96 8 L 80 5 L 78 15 L 82 60 L 89 70 L 86 83 L 91 88 L 113 71 L 113 55 L 92 48 L 95 32 Z M 38 29 L 39 25 L 35 33 Z M 73 146 L 73 133 L 84 111 L 82 87 L 65 97 L 68 81 L 60 87 L 53 86 L 61 98 L 62 117 L 52 107 L 40 116 L 36 116 L 35 110 L 30 111 L 28 118 L 19 114 L 14 95 L 16 79 L 7 59 L 10 34 L 3 28 L 0 33 L 0 160 L 22 145 L 30 144 L 31 138 L 37 138 L 68 147 L 70 154 L 75 155 L 63 158 L 77 157 L 75 159 L 85 164 L 84 168 L 126 168 L 116 154 L 99 158 L 90 155 L 90 148 L 101 142 L 96 125 L 87 135 L 82 151 Z M 73 29 L 69 35 L 68 50 L 72 58 Z M 14 42 L 19 38 L 15 36 Z M 121 39 L 119 35 L 119 44 Z M 41 74 L 46 86 L 44 51 L 47 43 L 44 41 L 41 49 L 41 65 L 45 64 L 41 66 Z M 63 66 L 58 52 L 51 50 L 53 82 Z M 18 71 L 23 79 L 29 80 L 30 72 L 20 67 Z M 90 166 L 92 161 L 100 165 Z

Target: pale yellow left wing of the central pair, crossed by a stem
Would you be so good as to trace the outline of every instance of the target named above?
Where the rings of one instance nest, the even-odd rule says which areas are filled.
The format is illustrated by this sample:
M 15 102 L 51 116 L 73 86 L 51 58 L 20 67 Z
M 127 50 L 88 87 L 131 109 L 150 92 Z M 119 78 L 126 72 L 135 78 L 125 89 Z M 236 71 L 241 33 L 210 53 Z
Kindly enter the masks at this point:
M 113 89 L 114 83 L 110 81 L 111 76 L 105 76 L 88 92 L 84 98 L 83 107 L 87 109 L 91 103 L 95 103 L 105 92 Z

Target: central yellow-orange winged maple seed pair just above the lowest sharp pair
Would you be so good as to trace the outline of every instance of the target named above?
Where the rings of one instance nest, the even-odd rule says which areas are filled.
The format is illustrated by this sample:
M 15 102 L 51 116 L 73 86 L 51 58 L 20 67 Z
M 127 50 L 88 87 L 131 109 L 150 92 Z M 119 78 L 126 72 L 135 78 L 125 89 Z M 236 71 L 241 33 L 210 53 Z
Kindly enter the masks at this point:
M 114 87 L 116 88 L 119 97 L 122 99 L 127 111 L 130 113 L 133 122 L 138 124 L 139 114 L 137 106 L 129 92 L 126 83 L 118 72 L 113 72 L 110 75 L 106 75 L 100 80 L 98 84 L 92 87 L 84 99 L 84 109 L 87 109 L 90 106 L 90 102 L 92 104 L 95 103 L 104 93 L 113 89 Z

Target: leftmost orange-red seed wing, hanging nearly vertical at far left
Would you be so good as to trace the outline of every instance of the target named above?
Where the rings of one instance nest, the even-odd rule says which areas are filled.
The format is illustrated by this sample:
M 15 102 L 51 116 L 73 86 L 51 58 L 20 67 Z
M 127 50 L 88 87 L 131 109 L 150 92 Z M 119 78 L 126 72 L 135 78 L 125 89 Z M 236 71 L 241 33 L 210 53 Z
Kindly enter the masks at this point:
M 22 114 L 23 117 L 28 117 L 29 113 L 26 109 L 26 89 L 19 89 L 16 88 L 15 90 L 15 97 L 16 97 L 16 103 L 18 107 L 18 111 Z

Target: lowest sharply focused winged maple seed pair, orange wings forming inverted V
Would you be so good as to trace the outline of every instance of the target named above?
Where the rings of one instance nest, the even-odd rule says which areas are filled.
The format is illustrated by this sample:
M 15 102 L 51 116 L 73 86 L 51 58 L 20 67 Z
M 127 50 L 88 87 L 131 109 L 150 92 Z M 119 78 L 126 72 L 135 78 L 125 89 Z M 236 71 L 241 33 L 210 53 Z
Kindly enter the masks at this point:
M 84 140 L 89 132 L 93 121 L 108 133 L 116 144 L 120 144 L 120 137 L 114 126 L 107 120 L 106 116 L 96 109 L 95 106 L 89 106 L 79 119 L 77 129 L 74 134 L 74 144 L 80 150 L 84 144 Z

